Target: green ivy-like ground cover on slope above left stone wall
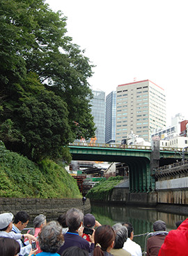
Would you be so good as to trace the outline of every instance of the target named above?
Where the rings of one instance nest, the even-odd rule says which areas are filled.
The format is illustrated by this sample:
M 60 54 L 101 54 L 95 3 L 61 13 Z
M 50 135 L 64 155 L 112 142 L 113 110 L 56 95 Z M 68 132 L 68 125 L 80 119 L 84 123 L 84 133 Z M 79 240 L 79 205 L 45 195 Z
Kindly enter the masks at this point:
M 0 197 L 79 198 L 77 181 L 49 159 L 39 164 L 0 143 Z

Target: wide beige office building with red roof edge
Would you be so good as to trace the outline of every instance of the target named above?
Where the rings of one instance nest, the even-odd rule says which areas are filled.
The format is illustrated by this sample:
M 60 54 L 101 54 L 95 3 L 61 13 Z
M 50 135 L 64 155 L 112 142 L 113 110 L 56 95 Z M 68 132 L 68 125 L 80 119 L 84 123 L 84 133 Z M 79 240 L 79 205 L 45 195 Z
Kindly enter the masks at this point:
M 118 85 L 116 92 L 116 143 L 132 132 L 150 141 L 153 129 L 166 127 L 166 97 L 162 87 L 142 80 Z

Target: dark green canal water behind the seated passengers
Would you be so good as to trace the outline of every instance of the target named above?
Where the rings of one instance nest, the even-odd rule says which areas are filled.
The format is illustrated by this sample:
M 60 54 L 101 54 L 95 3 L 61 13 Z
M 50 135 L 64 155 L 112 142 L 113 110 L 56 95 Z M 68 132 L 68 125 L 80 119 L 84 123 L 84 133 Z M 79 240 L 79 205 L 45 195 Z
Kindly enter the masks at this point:
M 175 222 L 185 220 L 187 215 L 177 215 L 173 213 L 163 213 L 155 208 L 135 208 L 130 206 L 110 206 L 104 204 L 91 204 L 91 213 L 102 225 L 113 226 L 117 222 L 130 222 L 134 227 L 134 241 L 139 243 L 144 250 L 146 235 L 137 236 L 153 232 L 152 223 L 155 220 L 166 222 L 166 231 L 175 229 Z

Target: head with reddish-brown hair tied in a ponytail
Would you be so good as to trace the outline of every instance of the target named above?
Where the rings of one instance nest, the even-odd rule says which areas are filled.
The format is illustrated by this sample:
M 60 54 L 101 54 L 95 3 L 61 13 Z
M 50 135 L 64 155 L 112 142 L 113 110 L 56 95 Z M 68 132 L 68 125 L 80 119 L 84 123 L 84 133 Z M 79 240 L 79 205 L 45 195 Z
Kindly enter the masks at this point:
M 111 226 L 103 225 L 97 227 L 94 235 L 95 249 L 93 256 L 102 256 L 104 251 L 110 252 L 115 241 L 115 233 Z

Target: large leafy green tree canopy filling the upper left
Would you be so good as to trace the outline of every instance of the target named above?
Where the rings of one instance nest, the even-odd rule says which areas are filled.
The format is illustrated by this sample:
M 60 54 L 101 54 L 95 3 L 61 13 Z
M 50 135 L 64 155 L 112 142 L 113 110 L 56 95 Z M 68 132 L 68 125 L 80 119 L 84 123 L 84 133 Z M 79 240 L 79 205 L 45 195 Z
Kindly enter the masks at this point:
M 0 2 L 0 139 L 30 159 L 61 157 L 95 134 L 93 65 L 44 0 Z

